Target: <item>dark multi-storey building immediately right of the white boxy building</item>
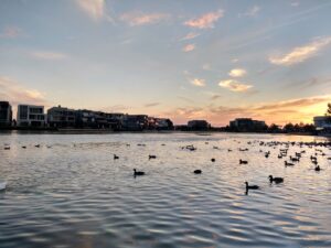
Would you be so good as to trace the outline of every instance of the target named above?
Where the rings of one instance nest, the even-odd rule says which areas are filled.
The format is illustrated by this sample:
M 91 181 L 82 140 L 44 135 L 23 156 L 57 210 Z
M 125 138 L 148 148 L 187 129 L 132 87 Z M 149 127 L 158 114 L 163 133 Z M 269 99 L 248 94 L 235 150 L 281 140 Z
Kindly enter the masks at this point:
M 61 106 L 50 108 L 47 110 L 47 122 L 52 128 L 74 128 L 76 125 L 76 111 Z

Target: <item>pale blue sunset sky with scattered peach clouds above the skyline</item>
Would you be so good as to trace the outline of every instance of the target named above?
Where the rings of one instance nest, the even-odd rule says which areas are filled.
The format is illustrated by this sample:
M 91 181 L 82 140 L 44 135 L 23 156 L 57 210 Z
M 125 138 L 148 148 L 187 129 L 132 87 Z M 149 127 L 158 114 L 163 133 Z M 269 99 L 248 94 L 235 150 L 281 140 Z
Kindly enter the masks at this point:
M 311 122 L 331 101 L 331 1 L 1 0 L 0 100 Z

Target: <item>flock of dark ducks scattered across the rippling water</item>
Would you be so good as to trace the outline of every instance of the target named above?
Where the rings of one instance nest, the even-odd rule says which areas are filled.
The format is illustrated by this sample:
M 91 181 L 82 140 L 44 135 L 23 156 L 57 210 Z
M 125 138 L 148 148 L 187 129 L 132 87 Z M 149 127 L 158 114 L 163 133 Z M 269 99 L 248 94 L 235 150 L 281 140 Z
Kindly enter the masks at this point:
M 242 143 L 241 141 L 236 141 L 237 143 Z M 209 144 L 209 142 L 205 142 L 205 144 Z M 319 172 L 322 169 L 320 168 L 319 163 L 318 163 L 318 158 L 320 157 L 327 157 L 325 152 L 321 149 L 321 148 L 328 148 L 329 150 L 331 150 L 331 142 L 279 142 L 279 141 L 270 141 L 270 142 L 265 142 L 265 141 L 248 141 L 247 144 L 249 147 L 253 147 L 255 144 L 258 144 L 259 147 L 264 147 L 264 148 L 268 148 L 268 149 L 277 149 L 277 147 L 281 147 L 279 149 L 279 153 L 278 153 L 278 159 L 284 159 L 284 158 L 288 158 L 288 160 L 290 162 L 288 162 L 287 160 L 284 161 L 285 166 L 295 166 L 296 164 L 298 164 L 300 162 L 300 159 L 302 157 L 302 154 L 306 153 L 306 150 L 303 149 L 309 148 L 309 149 L 314 149 L 314 155 L 310 155 L 310 161 L 311 163 L 314 165 L 314 171 Z M 130 144 L 126 144 L 127 147 L 130 147 Z M 138 147 L 146 147 L 146 144 L 143 143 L 138 143 Z M 166 145 L 164 143 L 162 143 L 162 145 Z M 301 149 L 300 152 L 295 152 L 293 155 L 289 155 L 288 157 L 288 152 L 289 152 L 289 148 L 290 147 L 299 147 Z M 35 148 L 41 148 L 41 144 L 35 144 Z M 26 145 L 22 145 L 22 149 L 26 149 Z M 47 145 L 46 148 L 52 148 L 51 145 Z M 196 151 L 197 148 L 194 147 L 193 144 L 189 144 L 189 145 L 184 145 L 181 147 L 182 150 L 188 150 L 188 151 Z M 220 149 L 218 147 L 213 147 L 213 149 Z M 4 150 L 10 150 L 10 145 L 6 144 L 4 145 Z M 227 152 L 232 152 L 232 149 L 227 149 Z M 248 148 L 238 148 L 239 152 L 246 152 L 249 151 Z M 264 157 L 266 159 L 269 158 L 270 155 L 270 151 L 263 151 L 261 149 L 259 150 L 260 153 L 264 153 Z M 152 159 L 157 159 L 157 155 L 152 155 L 150 154 L 148 157 L 149 160 Z M 119 160 L 119 157 L 117 154 L 114 154 L 114 160 Z M 331 157 L 328 158 L 329 161 L 331 161 Z M 211 162 L 215 162 L 216 160 L 214 158 L 211 159 Z M 247 160 L 242 160 L 239 159 L 238 161 L 239 164 L 248 164 Z M 193 171 L 194 174 L 202 174 L 202 170 L 194 170 Z M 143 171 L 138 171 L 137 169 L 134 169 L 134 176 L 142 176 L 146 175 L 146 173 Z M 284 183 L 284 177 L 279 177 L 279 176 L 273 176 L 269 175 L 268 176 L 269 182 L 270 183 L 276 183 L 276 184 L 280 184 Z M 248 182 L 245 182 L 246 185 L 246 194 L 248 193 L 249 190 L 259 190 L 260 187 L 258 185 L 249 185 Z M 0 182 L 0 191 L 6 190 L 7 187 L 7 182 Z

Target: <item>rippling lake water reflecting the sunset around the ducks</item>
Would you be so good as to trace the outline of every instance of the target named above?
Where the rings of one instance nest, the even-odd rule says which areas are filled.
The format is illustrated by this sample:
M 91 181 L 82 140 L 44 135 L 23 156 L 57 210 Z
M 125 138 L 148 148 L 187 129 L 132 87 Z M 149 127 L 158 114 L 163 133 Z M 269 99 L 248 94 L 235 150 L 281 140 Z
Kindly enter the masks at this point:
M 0 192 L 0 247 L 331 247 L 331 150 L 290 145 L 288 157 L 306 153 L 285 168 L 289 158 L 277 158 L 285 144 L 257 142 L 314 140 L 0 134 L 0 177 L 8 182 Z M 181 149 L 188 144 L 197 150 Z M 310 160 L 314 153 L 320 172 Z M 147 174 L 135 179 L 134 168 Z M 193 174 L 195 169 L 203 173 Z M 269 174 L 284 176 L 285 183 L 270 185 Z M 246 195 L 245 181 L 260 190 Z

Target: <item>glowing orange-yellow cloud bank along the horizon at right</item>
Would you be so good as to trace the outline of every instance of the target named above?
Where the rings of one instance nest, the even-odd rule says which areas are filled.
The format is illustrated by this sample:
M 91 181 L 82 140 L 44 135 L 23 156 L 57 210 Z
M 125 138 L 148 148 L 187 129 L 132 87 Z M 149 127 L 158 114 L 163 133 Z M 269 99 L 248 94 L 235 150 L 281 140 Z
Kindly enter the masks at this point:
M 285 101 L 261 103 L 237 107 L 207 105 L 185 106 L 164 112 L 175 123 L 185 123 L 188 119 L 207 119 L 214 126 L 226 126 L 229 120 L 241 117 L 266 120 L 267 123 L 311 122 L 313 116 L 323 115 L 331 95 L 312 96 Z M 192 104 L 193 105 L 193 104 Z M 284 116 L 286 115 L 286 118 Z

